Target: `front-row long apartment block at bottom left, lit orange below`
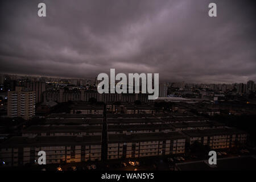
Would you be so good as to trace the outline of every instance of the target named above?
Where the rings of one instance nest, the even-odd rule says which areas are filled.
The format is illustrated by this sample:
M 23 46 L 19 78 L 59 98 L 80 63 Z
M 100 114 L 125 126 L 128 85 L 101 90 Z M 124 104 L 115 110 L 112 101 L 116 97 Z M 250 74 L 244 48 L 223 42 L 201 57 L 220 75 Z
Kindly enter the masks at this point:
M 13 137 L 0 145 L 5 166 L 38 164 L 38 152 L 46 152 L 46 164 L 101 160 L 101 136 Z

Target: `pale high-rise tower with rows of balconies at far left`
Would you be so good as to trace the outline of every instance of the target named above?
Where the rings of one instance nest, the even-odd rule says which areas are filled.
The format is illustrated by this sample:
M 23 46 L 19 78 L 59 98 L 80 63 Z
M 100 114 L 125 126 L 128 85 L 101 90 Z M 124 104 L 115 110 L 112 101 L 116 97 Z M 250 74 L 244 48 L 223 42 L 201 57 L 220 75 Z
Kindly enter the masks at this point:
M 36 93 L 17 86 L 15 91 L 8 92 L 8 117 L 30 119 L 35 115 Z

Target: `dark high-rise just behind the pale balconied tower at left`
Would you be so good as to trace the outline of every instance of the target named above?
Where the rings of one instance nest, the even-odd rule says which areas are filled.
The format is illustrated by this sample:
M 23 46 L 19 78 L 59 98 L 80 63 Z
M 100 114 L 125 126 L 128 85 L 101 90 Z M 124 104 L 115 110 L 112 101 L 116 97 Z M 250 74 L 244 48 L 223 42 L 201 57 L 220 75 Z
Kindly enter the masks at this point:
M 36 103 L 41 102 L 43 95 L 42 93 L 46 91 L 46 82 L 43 81 L 28 81 L 27 89 L 36 92 Z

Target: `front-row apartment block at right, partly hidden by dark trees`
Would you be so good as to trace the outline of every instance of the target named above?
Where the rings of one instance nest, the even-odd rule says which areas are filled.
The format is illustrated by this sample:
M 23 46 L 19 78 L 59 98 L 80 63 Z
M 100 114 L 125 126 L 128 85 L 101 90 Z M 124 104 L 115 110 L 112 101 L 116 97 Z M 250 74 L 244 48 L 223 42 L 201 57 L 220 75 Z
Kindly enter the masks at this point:
M 187 135 L 189 144 L 198 141 L 208 145 L 211 149 L 232 148 L 246 143 L 247 134 L 244 131 L 233 128 L 187 130 L 183 131 Z

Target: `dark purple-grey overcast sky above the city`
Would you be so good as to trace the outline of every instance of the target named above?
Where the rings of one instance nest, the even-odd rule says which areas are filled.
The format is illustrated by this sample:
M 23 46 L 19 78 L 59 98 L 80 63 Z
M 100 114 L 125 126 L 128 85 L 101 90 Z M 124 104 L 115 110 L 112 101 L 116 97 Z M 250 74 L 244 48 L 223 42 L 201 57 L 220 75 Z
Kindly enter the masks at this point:
M 1 0 L 0 10 L 1 73 L 85 78 L 115 68 L 164 81 L 256 80 L 255 1 Z

